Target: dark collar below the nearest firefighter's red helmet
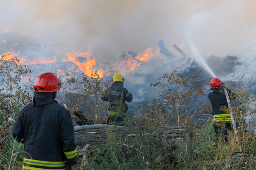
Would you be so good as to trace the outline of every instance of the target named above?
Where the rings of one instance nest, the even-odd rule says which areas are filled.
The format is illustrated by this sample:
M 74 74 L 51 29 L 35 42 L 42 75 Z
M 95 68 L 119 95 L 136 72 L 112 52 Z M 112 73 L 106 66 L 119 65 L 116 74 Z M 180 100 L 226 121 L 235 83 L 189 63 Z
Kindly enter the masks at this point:
M 34 92 L 34 97 L 33 97 L 34 106 L 50 104 L 52 102 L 56 102 L 55 100 L 53 100 L 53 92 Z

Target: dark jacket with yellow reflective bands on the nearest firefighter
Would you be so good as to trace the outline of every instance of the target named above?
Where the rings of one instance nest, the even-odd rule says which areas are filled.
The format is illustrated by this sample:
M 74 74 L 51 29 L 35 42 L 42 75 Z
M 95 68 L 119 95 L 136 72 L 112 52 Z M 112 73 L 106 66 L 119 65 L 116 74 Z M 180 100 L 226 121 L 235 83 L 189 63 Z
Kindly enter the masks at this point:
M 76 164 L 71 115 L 53 100 L 52 92 L 34 92 L 33 102 L 20 112 L 12 135 L 24 143 L 23 169 L 64 169 L 65 160 L 68 166 Z

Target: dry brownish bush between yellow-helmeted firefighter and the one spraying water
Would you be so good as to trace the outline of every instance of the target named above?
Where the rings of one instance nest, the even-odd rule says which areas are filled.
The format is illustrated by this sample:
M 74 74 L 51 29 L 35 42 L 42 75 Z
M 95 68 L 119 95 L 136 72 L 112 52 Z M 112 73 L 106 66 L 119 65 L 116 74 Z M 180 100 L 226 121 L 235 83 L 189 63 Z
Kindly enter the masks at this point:
M 158 98 L 150 104 L 143 104 L 140 119 L 143 125 L 169 126 L 186 125 L 201 113 L 199 96 L 203 96 L 201 87 L 193 84 L 195 77 L 184 78 L 174 70 L 163 74 L 159 81 L 151 84 L 162 90 Z

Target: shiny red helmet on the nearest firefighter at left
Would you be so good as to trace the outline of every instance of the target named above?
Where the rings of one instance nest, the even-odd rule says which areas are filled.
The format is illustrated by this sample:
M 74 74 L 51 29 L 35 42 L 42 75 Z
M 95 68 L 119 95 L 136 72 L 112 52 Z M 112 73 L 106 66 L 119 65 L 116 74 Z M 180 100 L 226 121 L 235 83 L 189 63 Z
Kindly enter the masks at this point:
M 40 74 L 34 83 L 34 91 L 37 92 L 54 92 L 62 87 L 61 82 L 54 73 Z

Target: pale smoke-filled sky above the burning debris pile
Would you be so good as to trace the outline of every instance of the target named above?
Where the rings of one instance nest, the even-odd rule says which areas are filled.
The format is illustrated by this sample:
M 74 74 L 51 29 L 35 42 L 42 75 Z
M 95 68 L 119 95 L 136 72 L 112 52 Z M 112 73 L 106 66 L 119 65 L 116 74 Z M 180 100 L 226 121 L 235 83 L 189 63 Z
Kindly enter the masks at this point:
M 238 55 L 256 45 L 255 0 L 0 0 L 0 32 L 29 37 L 67 59 L 87 51 L 99 61 L 123 49 L 158 49 L 162 39 L 176 54 L 191 46 L 206 58 Z M 0 42 L 1 43 L 1 42 Z M 0 44 L 1 45 L 1 44 Z

